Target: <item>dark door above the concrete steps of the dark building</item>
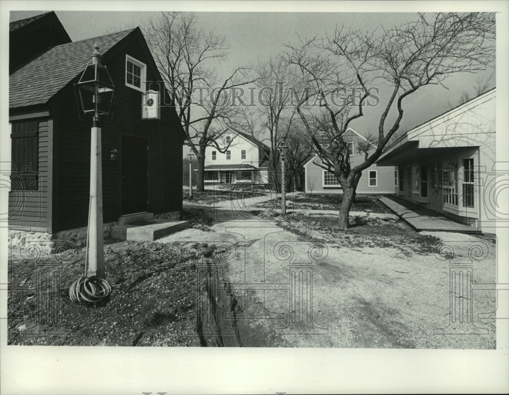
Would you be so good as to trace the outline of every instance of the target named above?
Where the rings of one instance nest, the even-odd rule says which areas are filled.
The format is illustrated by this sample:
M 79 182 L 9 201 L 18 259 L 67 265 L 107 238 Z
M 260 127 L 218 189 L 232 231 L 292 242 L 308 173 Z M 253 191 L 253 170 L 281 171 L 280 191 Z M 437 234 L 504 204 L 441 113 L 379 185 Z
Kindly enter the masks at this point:
M 147 211 L 148 140 L 122 136 L 122 215 Z

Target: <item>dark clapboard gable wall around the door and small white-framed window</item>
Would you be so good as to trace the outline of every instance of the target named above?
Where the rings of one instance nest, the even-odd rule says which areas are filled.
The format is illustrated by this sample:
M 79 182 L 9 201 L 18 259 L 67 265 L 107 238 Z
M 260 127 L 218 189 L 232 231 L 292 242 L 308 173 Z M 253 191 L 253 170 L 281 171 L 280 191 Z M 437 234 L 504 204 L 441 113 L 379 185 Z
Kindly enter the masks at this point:
M 100 45 L 100 43 L 99 43 Z M 142 93 L 125 86 L 125 55 L 148 64 L 142 45 L 133 41 L 105 65 L 116 87 L 114 114 L 102 129 L 103 220 L 116 221 L 121 215 L 122 135 L 148 140 L 148 211 L 154 214 L 182 210 L 182 136 L 168 107 L 161 108 L 160 120 L 142 120 Z M 157 76 L 147 67 L 147 80 Z M 157 84 L 151 89 L 156 90 Z M 54 231 L 87 225 L 90 188 L 90 127 L 78 119 L 74 92 L 69 90 L 58 105 L 55 124 Z M 118 161 L 109 160 L 117 149 Z

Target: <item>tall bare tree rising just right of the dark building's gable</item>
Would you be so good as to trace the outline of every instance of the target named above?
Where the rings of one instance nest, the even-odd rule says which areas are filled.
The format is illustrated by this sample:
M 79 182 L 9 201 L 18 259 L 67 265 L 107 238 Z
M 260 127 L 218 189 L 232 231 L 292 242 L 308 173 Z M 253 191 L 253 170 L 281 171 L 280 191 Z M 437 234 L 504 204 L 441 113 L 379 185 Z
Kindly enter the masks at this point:
M 175 106 L 198 162 L 196 189 L 204 190 L 205 150 L 215 147 L 224 153 L 230 148 L 217 142 L 222 126 L 237 114 L 230 105 L 230 91 L 254 82 L 248 69 L 239 67 L 222 80 L 214 67 L 227 58 L 225 39 L 214 31 L 200 29 L 194 13 L 162 12 L 144 27 L 154 60 L 171 92 L 166 103 Z

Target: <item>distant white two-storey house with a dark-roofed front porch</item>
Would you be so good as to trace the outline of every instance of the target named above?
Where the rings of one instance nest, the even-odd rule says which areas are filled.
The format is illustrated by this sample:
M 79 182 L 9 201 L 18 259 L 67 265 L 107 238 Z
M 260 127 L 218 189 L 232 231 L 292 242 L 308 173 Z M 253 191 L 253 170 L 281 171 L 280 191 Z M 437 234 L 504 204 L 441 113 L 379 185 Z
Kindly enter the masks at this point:
M 206 184 L 268 183 L 267 160 L 270 148 L 267 145 L 231 127 L 220 133 L 217 144 L 228 149 L 221 153 L 215 147 L 206 148 Z

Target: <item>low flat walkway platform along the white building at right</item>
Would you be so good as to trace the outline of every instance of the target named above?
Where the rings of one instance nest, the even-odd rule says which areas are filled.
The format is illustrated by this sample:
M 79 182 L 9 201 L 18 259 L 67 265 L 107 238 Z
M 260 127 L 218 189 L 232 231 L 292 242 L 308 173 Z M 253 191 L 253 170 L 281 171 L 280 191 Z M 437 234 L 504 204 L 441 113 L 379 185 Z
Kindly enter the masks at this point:
M 477 230 L 477 228 L 456 222 L 435 211 L 407 202 L 397 196 L 382 196 L 379 200 L 418 232 L 438 231 L 466 234 L 482 233 Z

